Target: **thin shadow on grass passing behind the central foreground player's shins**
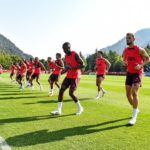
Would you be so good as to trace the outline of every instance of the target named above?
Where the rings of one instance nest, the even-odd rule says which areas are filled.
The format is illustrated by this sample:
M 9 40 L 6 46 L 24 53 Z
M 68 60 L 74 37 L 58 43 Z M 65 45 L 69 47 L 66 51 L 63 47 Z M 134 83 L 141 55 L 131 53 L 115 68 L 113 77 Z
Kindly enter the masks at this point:
M 91 100 L 92 98 L 80 98 L 80 101 L 86 101 L 86 100 Z M 72 99 L 64 99 L 64 103 L 66 102 L 71 102 L 73 101 Z M 35 103 L 23 103 L 23 105 L 32 105 L 32 104 L 48 104 L 48 103 L 57 103 L 58 100 L 48 100 L 48 101 L 38 101 Z

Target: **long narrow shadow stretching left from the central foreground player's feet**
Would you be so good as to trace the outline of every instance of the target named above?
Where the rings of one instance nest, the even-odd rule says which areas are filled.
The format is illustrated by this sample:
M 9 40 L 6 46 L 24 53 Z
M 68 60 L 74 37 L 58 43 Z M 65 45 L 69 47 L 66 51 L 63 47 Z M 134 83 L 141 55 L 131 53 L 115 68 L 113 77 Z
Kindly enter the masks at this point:
M 45 119 L 69 117 L 69 116 L 72 116 L 72 115 L 75 115 L 75 113 L 74 114 L 68 114 L 68 115 L 60 115 L 60 116 L 44 115 L 44 116 L 31 116 L 31 117 L 24 117 L 24 118 L 8 118 L 8 119 L 0 119 L 0 124 L 38 121 L 38 120 L 45 120 Z

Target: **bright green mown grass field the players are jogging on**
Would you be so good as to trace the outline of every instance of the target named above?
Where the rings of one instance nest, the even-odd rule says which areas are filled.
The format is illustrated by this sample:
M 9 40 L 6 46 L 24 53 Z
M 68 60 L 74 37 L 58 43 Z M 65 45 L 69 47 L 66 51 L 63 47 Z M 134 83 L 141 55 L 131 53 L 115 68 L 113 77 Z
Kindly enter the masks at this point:
M 127 126 L 131 107 L 125 97 L 124 76 L 107 76 L 107 94 L 95 100 L 95 76 L 82 76 L 76 95 L 84 113 L 76 116 L 76 105 L 66 91 L 63 114 L 49 115 L 57 107 L 58 90 L 48 97 L 49 75 L 43 75 L 44 91 L 19 91 L 8 74 L 0 80 L 0 136 L 13 150 L 149 150 L 150 78 L 140 91 L 140 113 L 134 126 Z M 61 81 L 64 77 L 61 78 Z M 60 82 L 61 82 L 60 81 Z

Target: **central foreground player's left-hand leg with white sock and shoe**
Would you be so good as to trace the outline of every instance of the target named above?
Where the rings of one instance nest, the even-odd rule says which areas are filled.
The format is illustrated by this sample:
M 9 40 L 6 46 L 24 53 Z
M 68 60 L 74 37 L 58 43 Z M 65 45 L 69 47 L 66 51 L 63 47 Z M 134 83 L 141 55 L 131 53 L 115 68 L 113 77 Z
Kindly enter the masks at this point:
M 71 84 L 70 80 L 65 78 L 61 85 L 61 88 L 59 90 L 58 108 L 55 111 L 51 112 L 52 115 L 60 115 L 61 114 L 64 92 L 70 86 L 70 84 Z

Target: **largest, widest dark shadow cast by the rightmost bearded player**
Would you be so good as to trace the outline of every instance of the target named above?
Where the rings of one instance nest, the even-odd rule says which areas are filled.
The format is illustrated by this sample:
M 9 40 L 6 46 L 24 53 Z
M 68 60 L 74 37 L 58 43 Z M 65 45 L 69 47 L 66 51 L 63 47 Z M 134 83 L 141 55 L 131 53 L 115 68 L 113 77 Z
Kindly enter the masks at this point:
M 32 146 L 37 144 L 44 144 L 50 142 L 59 142 L 65 140 L 67 137 L 77 136 L 77 135 L 87 135 L 96 132 L 109 131 L 121 127 L 127 127 L 126 124 L 123 125 L 113 125 L 113 123 L 123 121 L 129 118 L 117 119 L 107 122 L 102 122 L 94 125 L 78 126 L 73 128 L 66 128 L 57 131 L 39 130 L 35 132 L 25 133 L 6 139 L 7 143 L 11 146 L 22 147 L 22 146 Z M 104 125 L 109 125 L 109 127 L 103 127 Z M 97 129 L 99 127 L 99 129 Z M 93 129 L 95 128 L 95 129 Z

